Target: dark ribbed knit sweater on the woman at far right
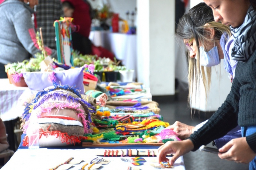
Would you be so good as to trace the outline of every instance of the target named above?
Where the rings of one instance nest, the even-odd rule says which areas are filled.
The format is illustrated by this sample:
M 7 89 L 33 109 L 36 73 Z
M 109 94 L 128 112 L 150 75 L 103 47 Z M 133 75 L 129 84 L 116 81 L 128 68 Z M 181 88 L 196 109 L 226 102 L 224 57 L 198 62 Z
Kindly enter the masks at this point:
M 237 123 L 241 127 L 256 126 L 256 51 L 246 62 L 238 62 L 235 73 L 225 102 L 202 128 L 189 137 L 194 144 L 193 151 L 224 136 Z M 247 136 L 246 141 L 256 152 L 256 133 Z

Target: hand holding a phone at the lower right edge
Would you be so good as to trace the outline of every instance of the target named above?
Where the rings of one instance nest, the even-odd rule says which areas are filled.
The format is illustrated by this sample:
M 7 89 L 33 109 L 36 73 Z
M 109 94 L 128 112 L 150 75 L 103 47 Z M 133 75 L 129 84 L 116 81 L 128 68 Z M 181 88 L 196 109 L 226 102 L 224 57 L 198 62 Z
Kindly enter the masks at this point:
M 247 144 L 245 137 L 230 140 L 219 151 L 225 152 L 218 154 L 220 159 L 233 160 L 237 163 L 244 164 L 249 163 L 256 156 L 256 153 Z

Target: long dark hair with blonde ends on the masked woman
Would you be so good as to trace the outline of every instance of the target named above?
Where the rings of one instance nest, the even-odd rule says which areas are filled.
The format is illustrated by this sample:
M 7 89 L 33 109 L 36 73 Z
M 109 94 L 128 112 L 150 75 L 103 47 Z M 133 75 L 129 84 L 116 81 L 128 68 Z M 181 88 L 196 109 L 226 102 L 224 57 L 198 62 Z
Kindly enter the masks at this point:
M 208 23 L 208 24 L 207 24 Z M 205 24 L 207 24 L 205 26 Z M 196 47 L 197 47 L 197 60 L 195 58 L 190 58 L 187 52 L 188 57 L 188 84 L 189 84 L 189 93 L 188 101 L 190 102 L 190 97 L 195 92 L 200 94 L 199 85 L 200 78 L 202 78 L 204 90 L 207 98 L 209 94 L 210 85 L 211 85 L 211 67 L 204 67 L 199 64 L 200 62 L 200 45 L 207 46 L 209 42 L 212 43 L 212 39 L 209 39 L 208 32 L 205 31 L 207 28 L 213 29 L 214 42 L 217 44 L 220 42 L 220 38 L 224 33 L 227 33 L 229 37 L 231 32 L 228 26 L 221 24 L 220 22 L 215 22 L 212 14 L 212 9 L 208 7 L 205 3 L 200 3 L 195 7 L 191 8 L 186 12 L 183 17 L 180 19 L 180 22 L 177 26 L 177 35 L 181 39 L 192 39 L 195 38 Z M 195 87 L 194 87 L 195 85 Z M 195 89 L 195 91 L 193 91 Z M 200 95 L 199 95 L 200 96 Z M 199 99 L 200 100 L 200 99 Z M 192 112 L 191 112 L 192 113 Z

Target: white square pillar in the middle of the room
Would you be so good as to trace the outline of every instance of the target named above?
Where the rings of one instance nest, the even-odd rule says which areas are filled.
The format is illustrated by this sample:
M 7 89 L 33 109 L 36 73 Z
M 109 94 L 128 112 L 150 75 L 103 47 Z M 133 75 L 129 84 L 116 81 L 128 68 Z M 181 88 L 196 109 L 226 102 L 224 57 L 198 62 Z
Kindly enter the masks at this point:
M 138 0 L 137 7 L 138 81 L 152 95 L 174 95 L 175 1 Z

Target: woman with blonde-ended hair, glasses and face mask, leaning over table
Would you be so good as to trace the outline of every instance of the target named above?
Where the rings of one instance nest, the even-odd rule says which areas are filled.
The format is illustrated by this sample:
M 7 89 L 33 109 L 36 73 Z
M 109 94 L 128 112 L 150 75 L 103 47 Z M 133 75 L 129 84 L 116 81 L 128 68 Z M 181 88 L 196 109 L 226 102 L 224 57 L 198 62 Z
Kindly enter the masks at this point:
M 198 89 L 200 78 L 202 78 L 207 95 L 211 84 L 212 66 L 220 64 L 220 59 L 224 60 L 224 68 L 229 73 L 231 81 L 235 77 L 237 61 L 231 60 L 229 57 L 233 47 L 233 36 L 230 37 L 230 34 L 228 26 L 214 21 L 212 10 L 205 3 L 196 5 L 180 18 L 177 35 L 184 40 L 188 49 L 188 99 L 193 93 L 200 93 L 200 89 Z M 200 102 L 200 98 L 196 101 Z M 196 127 L 176 121 L 167 128 L 175 131 L 180 139 L 185 139 L 207 121 L 196 125 Z M 239 137 L 241 137 L 241 128 L 237 126 L 227 135 L 214 140 L 213 145 L 220 148 L 231 139 Z

